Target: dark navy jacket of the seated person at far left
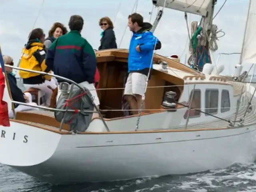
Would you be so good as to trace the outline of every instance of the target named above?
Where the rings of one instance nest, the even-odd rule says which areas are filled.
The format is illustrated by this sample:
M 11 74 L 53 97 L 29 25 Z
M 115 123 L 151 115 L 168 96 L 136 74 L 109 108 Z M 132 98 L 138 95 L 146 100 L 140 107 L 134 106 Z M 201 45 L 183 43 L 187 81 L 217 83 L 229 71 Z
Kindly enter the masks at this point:
M 18 88 L 16 81 L 13 79 L 15 77 L 12 77 L 11 74 L 7 74 L 8 77 L 8 82 L 9 82 L 9 86 L 10 86 L 10 91 L 12 94 L 12 99 L 14 101 L 18 101 L 18 102 L 25 102 L 25 98 L 24 98 L 24 94 L 22 92 L 22 90 L 20 88 Z

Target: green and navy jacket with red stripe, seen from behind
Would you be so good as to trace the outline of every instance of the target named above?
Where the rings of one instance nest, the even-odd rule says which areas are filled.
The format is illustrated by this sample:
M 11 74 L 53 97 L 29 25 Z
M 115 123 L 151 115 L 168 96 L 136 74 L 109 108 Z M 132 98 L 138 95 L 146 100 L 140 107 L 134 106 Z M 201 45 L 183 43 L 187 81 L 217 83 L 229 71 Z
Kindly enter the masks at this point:
M 94 83 L 96 55 L 78 31 L 70 31 L 54 41 L 47 51 L 45 64 L 54 74 L 76 83 Z

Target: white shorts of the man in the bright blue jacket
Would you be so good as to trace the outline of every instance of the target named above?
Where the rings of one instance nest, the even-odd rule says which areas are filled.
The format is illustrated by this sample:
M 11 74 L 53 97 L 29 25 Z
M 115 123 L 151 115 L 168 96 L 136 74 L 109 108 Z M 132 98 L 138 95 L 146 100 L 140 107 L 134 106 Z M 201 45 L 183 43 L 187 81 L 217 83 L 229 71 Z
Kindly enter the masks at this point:
M 146 87 L 147 76 L 141 73 L 130 73 L 124 88 L 124 95 L 143 95 Z

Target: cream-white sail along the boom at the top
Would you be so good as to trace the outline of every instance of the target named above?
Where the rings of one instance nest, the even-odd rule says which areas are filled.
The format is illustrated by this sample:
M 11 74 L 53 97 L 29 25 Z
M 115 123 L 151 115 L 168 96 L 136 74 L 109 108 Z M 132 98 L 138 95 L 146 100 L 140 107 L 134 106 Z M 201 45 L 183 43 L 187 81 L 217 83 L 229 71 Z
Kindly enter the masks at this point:
M 175 9 L 192 14 L 206 16 L 212 0 L 152 0 L 156 6 L 163 7 L 166 1 L 166 8 Z

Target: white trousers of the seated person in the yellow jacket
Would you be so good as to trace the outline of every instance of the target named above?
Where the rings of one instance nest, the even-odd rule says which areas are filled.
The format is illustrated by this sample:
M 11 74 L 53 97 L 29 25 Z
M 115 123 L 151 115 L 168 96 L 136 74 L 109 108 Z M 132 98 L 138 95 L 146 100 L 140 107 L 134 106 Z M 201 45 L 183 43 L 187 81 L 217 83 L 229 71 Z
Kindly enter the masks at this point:
M 49 89 L 47 86 L 50 86 L 52 89 L 55 89 L 57 87 L 54 80 L 51 80 L 51 81 L 45 80 L 45 82 L 42 84 L 34 84 L 34 85 L 24 84 L 24 86 L 26 89 L 37 88 L 37 89 L 40 89 L 42 92 L 44 92 L 46 94 L 46 106 L 50 105 L 50 101 L 52 97 L 52 90 Z

